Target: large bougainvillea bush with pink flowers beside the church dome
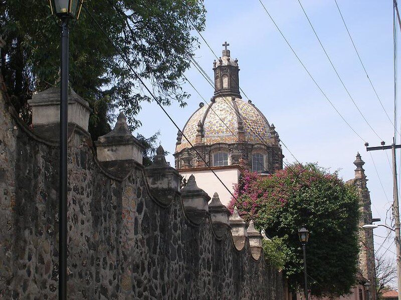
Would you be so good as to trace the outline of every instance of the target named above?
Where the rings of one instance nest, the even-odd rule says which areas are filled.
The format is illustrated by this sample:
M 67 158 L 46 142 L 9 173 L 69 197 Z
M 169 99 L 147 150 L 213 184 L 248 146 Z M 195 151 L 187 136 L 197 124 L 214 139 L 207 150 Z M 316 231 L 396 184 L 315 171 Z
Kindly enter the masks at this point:
M 338 296 L 355 284 L 358 257 L 358 196 L 337 172 L 317 164 L 292 164 L 275 174 L 245 171 L 229 208 L 284 243 L 283 271 L 294 290 L 303 286 L 303 253 L 298 229 L 310 231 L 307 272 L 311 293 Z M 285 238 L 284 238 L 285 237 Z M 264 247 L 265 250 L 269 247 Z M 277 255 L 265 255 L 269 257 Z M 281 259 L 281 258 L 280 258 Z

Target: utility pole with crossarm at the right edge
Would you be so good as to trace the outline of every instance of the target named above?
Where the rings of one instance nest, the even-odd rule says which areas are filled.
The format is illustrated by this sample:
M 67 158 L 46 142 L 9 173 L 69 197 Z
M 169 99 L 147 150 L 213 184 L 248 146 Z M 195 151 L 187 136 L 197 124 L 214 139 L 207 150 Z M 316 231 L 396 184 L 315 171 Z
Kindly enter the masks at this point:
M 401 300 L 401 243 L 399 236 L 399 206 L 398 206 L 398 187 L 397 187 L 397 165 L 395 162 L 395 149 L 401 148 L 401 144 L 396 145 L 395 140 L 389 146 L 385 146 L 385 142 L 381 142 L 381 146 L 368 147 L 368 143 L 365 143 L 366 151 L 372 150 L 386 150 L 391 149 L 392 158 L 392 184 L 393 184 L 393 217 L 395 223 L 395 248 L 396 248 L 396 262 L 397 262 L 397 280 L 398 280 L 398 300 Z

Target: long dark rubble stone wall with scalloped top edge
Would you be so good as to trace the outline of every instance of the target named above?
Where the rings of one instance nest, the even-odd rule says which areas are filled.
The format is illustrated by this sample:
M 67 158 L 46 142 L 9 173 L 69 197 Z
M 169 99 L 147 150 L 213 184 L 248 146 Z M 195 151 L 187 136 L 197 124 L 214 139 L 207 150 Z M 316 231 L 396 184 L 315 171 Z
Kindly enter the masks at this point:
M 0 128 L 0 298 L 56 299 L 59 147 L 1 93 Z M 101 162 L 82 127 L 69 133 L 70 299 L 284 299 L 281 273 L 247 237 L 238 250 L 208 211 L 194 222 L 177 188 L 163 192 L 173 171 L 164 180 L 134 159 Z

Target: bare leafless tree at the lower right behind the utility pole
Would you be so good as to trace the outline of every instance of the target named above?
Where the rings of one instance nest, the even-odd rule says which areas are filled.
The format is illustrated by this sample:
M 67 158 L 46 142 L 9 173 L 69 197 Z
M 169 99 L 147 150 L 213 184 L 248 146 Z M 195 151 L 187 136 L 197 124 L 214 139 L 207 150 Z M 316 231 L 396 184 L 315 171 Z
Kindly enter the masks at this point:
M 393 259 L 383 255 L 375 257 L 374 265 L 376 268 L 376 291 L 377 297 L 381 299 L 384 291 L 391 288 L 397 278 L 397 265 Z

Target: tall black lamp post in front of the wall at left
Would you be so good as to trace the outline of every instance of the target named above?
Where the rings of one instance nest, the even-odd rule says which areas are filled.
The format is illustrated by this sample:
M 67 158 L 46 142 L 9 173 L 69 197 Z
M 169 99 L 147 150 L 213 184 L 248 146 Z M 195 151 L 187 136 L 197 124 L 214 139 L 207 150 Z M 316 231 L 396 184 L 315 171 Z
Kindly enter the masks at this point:
M 59 186 L 59 299 L 67 299 L 67 129 L 68 129 L 68 21 L 78 18 L 82 0 L 50 0 L 61 19 L 60 186 Z

